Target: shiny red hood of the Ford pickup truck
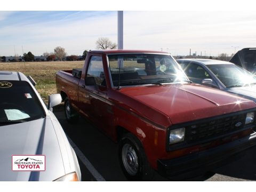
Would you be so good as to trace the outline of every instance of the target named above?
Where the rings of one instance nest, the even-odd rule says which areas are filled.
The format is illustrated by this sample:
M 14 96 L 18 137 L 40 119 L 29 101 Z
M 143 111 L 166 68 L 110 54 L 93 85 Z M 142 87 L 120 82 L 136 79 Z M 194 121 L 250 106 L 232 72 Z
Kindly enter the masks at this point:
M 198 84 L 126 87 L 122 88 L 121 92 L 165 114 L 172 124 L 233 113 L 256 106 L 247 99 Z M 150 113 L 143 113 L 154 121 Z

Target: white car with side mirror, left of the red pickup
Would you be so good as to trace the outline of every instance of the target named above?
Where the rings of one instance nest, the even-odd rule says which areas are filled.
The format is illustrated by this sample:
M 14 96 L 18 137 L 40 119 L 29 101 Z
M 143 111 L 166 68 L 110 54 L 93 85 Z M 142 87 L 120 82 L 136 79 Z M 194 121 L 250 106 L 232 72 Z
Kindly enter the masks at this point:
M 0 181 L 81 181 L 75 151 L 30 77 L 0 71 Z

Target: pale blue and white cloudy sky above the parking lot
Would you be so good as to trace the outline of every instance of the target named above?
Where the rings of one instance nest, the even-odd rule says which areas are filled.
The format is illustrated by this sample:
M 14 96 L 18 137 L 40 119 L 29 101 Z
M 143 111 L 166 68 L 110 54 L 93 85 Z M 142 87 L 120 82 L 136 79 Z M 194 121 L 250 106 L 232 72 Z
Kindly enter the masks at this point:
M 80 8 L 80 7 L 77 7 Z M 36 10 L 32 7 L 31 10 Z M 117 43 L 117 11 L 0 11 L 0 56 L 68 55 L 97 49 L 99 37 Z M 70 9 L 71 10 L 71 9 Z M 124 49 L 172 55 L 228 55 L 256 46 L 256 11 L 213 9 L 124 10 Z

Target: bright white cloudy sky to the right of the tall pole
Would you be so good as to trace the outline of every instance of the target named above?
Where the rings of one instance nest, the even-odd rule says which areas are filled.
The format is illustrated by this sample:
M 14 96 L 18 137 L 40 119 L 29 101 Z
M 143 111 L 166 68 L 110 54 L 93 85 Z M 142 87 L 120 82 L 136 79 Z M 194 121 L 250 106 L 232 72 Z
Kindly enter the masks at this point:
M 233 45 L 241 49 L 254 46 L 255 12 L 125 12 L 124 47 L 154 49 L 172 54 L 206 51 L 233 53 Z M 250 19 L 248 19 L 250 18 Z M 238 39 L 242 39 L 238 41 Z

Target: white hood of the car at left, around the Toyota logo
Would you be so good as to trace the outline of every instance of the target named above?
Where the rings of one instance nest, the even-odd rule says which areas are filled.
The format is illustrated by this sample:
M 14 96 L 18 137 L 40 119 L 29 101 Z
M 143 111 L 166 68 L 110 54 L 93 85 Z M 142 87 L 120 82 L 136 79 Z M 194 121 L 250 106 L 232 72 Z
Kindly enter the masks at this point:
M 0 126 L 0 132 L 0 181 L 49 181 L 65 175 L 51 118 Z M 12 171 L 12 155 L 45 155 L 45 171 Z

